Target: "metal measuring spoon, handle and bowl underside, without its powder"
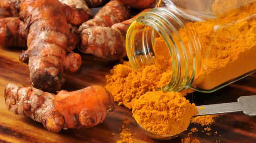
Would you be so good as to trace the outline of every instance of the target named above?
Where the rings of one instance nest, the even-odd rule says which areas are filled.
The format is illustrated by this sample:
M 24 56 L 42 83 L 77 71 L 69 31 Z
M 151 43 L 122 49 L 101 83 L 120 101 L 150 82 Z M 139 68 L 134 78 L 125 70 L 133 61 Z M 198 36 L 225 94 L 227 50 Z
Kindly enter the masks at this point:
M 232 113 L 232 112 L 243 112 L 245 115 L 248 116 L 256 116 L 256 95 L 253 96 L 241 96 L 237 99 L 238 102 L 232 103 L 221 103 L 221 104 L 213 104 L 213 105 L 202 105 L 196 106 L 199 114 L 196 116 L 201 115 L 213 115 L 213 114 L 222 114 L 222 113 Z M 141 127 L 135 120 L 135 123 L 138 127 L 140 127 L 145 134 L 150 136 L 151 138 L 157 140 L 170 140 L 179 136 L 179 134 L 171 134 L 171 135 L 159 135 L 150 133 L 143 127 Z

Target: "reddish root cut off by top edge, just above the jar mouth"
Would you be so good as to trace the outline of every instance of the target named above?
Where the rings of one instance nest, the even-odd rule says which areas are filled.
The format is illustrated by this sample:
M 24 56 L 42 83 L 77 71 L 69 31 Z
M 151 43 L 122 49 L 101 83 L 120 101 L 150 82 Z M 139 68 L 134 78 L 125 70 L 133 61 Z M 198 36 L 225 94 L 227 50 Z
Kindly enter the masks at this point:
M 156 0 L 119 0 L 119 1 L 135 9 L 152 8 L 156 4 Z

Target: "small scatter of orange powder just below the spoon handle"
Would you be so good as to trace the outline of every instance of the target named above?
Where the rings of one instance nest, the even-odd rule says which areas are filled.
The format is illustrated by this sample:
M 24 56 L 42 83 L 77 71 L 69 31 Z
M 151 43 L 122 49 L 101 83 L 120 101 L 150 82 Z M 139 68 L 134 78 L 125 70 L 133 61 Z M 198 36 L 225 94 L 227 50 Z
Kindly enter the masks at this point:
M 221 115 L 206 115 L 194 117 L 191 122 L 195 124 L 200 124 L 201 126 L 210 125 L 215 122 L 215 120 Z

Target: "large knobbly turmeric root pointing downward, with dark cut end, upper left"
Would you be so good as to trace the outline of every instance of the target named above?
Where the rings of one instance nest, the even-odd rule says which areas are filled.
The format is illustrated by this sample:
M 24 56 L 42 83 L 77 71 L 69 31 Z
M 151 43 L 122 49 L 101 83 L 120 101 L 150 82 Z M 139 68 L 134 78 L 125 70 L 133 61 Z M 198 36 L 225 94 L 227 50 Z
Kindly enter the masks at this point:
M 20 61 L 29 65 L 31 84 L 48 92 L 61 89 L 64 68 L 76 72 L 81 66 L 81 56 L 71 52 L 79 43 L 68 25 L 75 18 L 74 9 L 58 0 L 1 0 L 0 6 L 20 11 L 25 30 L 29 30 L 28 49 L 21 53 Z M 0 44 L 6 43 L 3 39 Z

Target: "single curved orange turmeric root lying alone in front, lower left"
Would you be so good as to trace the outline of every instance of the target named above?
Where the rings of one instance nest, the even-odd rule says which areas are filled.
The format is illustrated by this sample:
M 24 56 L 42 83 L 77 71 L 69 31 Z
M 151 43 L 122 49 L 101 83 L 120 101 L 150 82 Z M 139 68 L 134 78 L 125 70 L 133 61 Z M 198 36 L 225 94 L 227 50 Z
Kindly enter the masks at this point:
M 5 87 L 5 104 L 11 112 L 41 122 L 50 132 L 87 128 L 101 123 L 115 109 L 113 96 L 100 86 L 57 95 L 33 87 Z

